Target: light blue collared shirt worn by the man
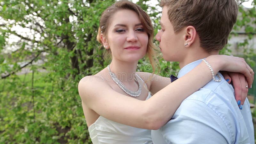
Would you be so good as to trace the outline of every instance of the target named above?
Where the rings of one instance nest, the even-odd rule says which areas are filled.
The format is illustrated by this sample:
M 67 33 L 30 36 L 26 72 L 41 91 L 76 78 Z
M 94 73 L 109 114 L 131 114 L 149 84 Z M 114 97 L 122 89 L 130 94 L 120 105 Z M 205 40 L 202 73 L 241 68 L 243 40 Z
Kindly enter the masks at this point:
M 201 61 L 183 67 L 178 78 Z M 154 144 L 254 144 L 248 99 L 244 102 L 243 110 L 240 110 L 232 85 L 218 74 L 221 82 L 210 81 L 183 100 L 169 122 L 159 130 L 151 131 Z

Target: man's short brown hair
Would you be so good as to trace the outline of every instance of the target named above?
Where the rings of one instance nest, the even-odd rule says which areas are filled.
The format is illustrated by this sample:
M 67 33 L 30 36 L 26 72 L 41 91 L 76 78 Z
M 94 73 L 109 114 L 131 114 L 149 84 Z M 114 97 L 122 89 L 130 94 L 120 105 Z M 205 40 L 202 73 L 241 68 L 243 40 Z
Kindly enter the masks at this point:
M 160 6 L 167 6 L 174 32 L 195 27 L 207 52 L 219 51 L 228 43 L 238 11 L 236 0 L 161 0 Z

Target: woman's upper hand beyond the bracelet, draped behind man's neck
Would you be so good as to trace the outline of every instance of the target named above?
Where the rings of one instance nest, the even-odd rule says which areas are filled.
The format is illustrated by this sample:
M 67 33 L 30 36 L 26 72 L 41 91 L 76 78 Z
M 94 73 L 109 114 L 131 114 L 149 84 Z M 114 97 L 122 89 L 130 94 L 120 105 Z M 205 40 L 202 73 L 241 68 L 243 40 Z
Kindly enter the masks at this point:
M 211 55 L 206 59 L 212 67 L 217 67 L 221 71 L 237 72 L 246 77 L 248 84 L 241 87 L 252 87 L 254 72 L 252 68 L 245 62 L 244 58 L 228 56 L 228 55 Z

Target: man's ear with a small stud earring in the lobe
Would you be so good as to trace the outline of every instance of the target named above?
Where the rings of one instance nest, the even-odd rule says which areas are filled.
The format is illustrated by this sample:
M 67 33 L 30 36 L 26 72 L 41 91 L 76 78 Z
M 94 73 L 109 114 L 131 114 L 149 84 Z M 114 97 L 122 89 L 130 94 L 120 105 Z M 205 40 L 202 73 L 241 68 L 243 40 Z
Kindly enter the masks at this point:
M 184 46 L 189 47 L 196 40 L 196 28 L 193 26 L 188 26 L 185 28 L 185 36 L 184 36 Z

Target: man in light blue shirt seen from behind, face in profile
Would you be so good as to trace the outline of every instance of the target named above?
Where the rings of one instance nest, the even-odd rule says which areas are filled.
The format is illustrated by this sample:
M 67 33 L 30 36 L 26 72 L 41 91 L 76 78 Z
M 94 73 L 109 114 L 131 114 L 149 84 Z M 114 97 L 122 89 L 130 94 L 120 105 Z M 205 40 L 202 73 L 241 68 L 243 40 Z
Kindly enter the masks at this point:
M 165 60 L 180 62 L 178 78 L 227 44 L 238 9 L 235 0 L 161 0 L 160 5 L 156 39 Z M 237 103 L 233 87 L 218 75 L 220 82 L 212 80 L 190 95 L 169 122 L 152 131 L 155 144 L 254 143 L 248 99 Z

